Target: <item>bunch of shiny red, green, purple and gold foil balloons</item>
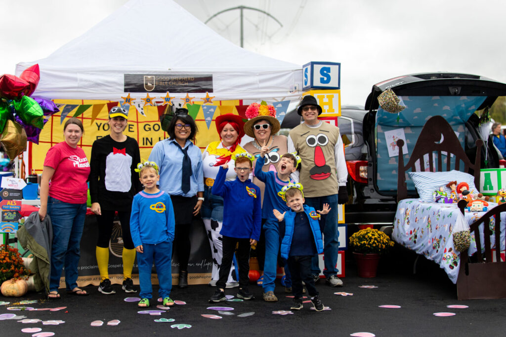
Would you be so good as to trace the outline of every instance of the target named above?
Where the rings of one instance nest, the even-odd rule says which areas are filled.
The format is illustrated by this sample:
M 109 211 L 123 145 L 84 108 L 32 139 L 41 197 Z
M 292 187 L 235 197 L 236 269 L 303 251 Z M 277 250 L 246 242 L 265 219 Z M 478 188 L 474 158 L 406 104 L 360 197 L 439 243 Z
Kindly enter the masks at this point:
M 26 149 L 26 141 L 38 144 L 38 136 L 49 117 L 59 112 L 53 101 L 30 97 L 38 81 L 38 64 L 26 68 L 19 77 L 0 77 L 0 144 L 13 160 Z

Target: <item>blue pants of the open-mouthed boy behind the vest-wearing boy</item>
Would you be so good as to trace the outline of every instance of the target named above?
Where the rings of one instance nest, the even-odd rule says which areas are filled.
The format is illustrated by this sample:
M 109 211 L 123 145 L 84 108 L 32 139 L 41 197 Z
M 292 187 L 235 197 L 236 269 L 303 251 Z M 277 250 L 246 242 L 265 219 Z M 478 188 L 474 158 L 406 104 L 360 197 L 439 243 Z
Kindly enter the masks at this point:
M 280 235 L 277 219 L 268 219 L 264 224 L 265 232 L 265 262 L 264 262 L 264 282 L 262 287 L 264 293 L 274 291 L 276 280 L 276 266 L 278 262 Z M 284 262 L 286 274 L 286 286 L 291 286 L 290 272 L 286 261 Z

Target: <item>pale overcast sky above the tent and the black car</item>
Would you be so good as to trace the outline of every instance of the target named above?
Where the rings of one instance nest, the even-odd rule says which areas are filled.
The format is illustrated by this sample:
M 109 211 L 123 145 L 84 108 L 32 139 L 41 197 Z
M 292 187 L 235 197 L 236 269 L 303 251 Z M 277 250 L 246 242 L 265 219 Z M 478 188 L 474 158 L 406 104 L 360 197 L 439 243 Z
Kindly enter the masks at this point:
M 0 0 L 0 75 L 46 58 L 127 0 Z M 419 72 L 449 71 L 506 82 L 506 2 L 489 0 L 177 0 L 201 21 L 240 5 L 244 47 L 303 65 L 341 63 L 342 105 L 364 105 L 374 83 Z M 163 17 L 153 13 L 153 19 Z M 239 44 L 239 11 L 208 26 Z M 170 17 L 167 16 L 167 29 Z

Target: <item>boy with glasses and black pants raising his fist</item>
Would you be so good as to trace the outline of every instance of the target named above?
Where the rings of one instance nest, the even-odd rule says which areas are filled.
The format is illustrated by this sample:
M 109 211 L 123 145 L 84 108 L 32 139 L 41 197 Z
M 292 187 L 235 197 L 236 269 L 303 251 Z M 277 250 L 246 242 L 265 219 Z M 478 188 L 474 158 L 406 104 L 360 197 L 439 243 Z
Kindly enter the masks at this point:
M 226 301 L 225 287 L 237 245 L 236 258 L 239 265 L 239 291 L 237 297 L 243 300 L 253 299 L 248 291 L 249 250 L 260 237 L 262 205 L 260 188 L 251 182 L 249 172 L 253 167 L 249 154 L 239 154 L 235 160 L 237 178 L 225 181 L 228 163 L 220 167 L 213 185 L 212 193 L 223 198 L 223 259 L 220 266 L 220 278 L 216 282 L 217 291 L 209 302 Z

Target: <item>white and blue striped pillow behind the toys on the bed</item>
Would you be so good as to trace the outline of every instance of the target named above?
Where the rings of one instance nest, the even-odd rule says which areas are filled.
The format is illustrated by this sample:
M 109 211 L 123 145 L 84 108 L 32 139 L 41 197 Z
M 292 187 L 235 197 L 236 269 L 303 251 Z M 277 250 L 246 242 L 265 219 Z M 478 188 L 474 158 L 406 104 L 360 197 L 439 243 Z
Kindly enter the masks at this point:
M 440 186 L 445 186 L 445 191 L 448 195 L 451 192 L 446 184 L 450 181 L 457 181 L 457 184 L 461 182 L 467 182 L 469 184 L 469 190 L 478 193 L 478 188 L 474 184 L 474 176 L 469 173 L 451 170 L 447 172 L 409 172 L 411 180 L 413 180 L 414 186 L 418 191 L 420 200 L 423 202 L 431 203 L 432 193 L 435 190 L 439 190 Z

